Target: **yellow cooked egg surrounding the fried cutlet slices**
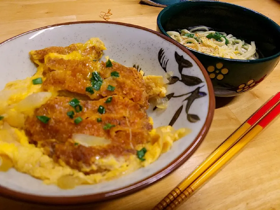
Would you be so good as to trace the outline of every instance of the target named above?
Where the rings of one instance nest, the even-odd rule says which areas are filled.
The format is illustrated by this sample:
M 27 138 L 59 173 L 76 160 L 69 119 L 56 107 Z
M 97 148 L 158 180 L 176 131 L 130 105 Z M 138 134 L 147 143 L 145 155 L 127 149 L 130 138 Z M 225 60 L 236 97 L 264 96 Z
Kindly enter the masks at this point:
M 88 55 L 85 46 L 89 44 L 95 46 L 100 45 L 100 42 L 91 39 L 86 44 L 72 45 L 71 49 L 76 50 L 71 51 L 70 46 L 67 48 L 67 52 L 60 49 L 63 51 L 63 55 L 60 55 L 60 57 L 81 60 L 84 56 L 96 59 L 97 55 L 102 55 L 98 52 L 94 56 Z M 104 45 L 96 48 L 106 49 Z M 106 172 L 86 175 L 70 168 L 64 162 L 59 160 L 55 162 L 51 157 L 44 154 L 42 148 L 37 148 L 34 144 L 29 143 L 29 139 L 23 130 L 26 116 L 32 115 L 36 108 L 45 104 L 50 97 L 57 95 L 55 91 L 43 92 L 41 84 L 34 85 L 32 83 L 36 78 L 42 78 L 43 82 L 46 78 L 43 76 L 44 64 L 39 62 L 42 59 L 41 54 L 35 51 L 31 51 L 31 54 L 36 55 L 33 57 L 33 61 L 35 60 L 34 62 L 38 64 L 36 74 L 24 80 L 10 82 L 0 92 L 0 171 L 7 171 L 10 167 L 14 167 L 17 171 L 41 179 L 46 184 L 58 185 L 62 189 L 74 188 L 81 184 L 95 184 L 135 171 L 140 167 L 146 167 L 157 160 L 160 154 L 168 151 L 174 141 L 190 132 L 186 128 L 174 130 L 171 126 L 152 129 L 150 131 L 152 140 L 135 148 L 138 151 L 146 148 L 146 152 L 143 153 L 144 159 L 137 157 L 137 155 L 129 155 L 127 158 L 116 158 L 112 155 L 99 158 L 97 164 L 103 165 L 105 168 L 111 168 L 110 171 Z M 52 55 L 55 55 L 55 52 L 48 52 L 44 58 Z M 162 77 L 145 76 L 143 78 L 147 82 L 150 97 L 165 96 L 166 89 Z M 150 118 L 150 123 L 153 125 L 152 118 Z

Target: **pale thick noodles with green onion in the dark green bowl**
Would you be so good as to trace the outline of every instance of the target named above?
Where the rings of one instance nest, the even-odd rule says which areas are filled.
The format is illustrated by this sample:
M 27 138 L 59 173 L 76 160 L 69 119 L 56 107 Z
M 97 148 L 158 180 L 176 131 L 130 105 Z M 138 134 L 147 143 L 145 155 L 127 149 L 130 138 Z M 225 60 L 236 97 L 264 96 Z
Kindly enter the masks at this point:
M 180 33 L 167 31 L 167 34 L 184 46 L 208 55 L 238 60 L 259 58 L 254 41 L 248 44 L 232 34 L 212 31 L 208 27 L 183 29 Z

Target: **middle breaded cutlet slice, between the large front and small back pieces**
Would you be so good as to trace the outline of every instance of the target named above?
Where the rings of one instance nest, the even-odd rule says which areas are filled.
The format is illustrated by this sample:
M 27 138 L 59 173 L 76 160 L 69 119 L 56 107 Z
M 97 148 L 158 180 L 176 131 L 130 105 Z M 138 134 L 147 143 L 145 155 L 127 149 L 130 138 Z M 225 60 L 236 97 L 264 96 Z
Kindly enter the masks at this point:
M 100 99 L 111 95 L 120 95 L 141 106 L 148 108 L 149 95 L 146 92 L 143 76 L 132 67 L 125 67 L 112 62 L 112 67 L 106 67 L 104 62 L 95 62 L 89 59 L 64 59 L 64 56 L 50 53 L 45 57 L 44 74 L 46 80 L 42 88 L 48 91 L 69 91 L 85 94 L 90 99 Z M 92 72 L 98 72 L 102 78 L 102 85 L 94 93 L 86 92 L 91 87 Z M 119 77 L 111 76 L 117 72 Z M 114 90 L 108 90 L 113 86 Z

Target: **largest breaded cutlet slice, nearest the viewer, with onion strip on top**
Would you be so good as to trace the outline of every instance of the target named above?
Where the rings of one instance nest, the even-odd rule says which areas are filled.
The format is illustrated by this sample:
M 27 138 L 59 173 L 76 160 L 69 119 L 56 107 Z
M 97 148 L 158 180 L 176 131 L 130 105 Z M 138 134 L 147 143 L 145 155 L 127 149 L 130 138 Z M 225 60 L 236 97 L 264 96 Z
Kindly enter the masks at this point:
M 95 157 L 108 155 L 122 156 L 135 153 L 134 147 L 150 140 L 149 122 L 145 109 L 129 99 L 113 95 L 111 102 L 107 98 L 98 101 L 80 101 L 81 112 L 74 111 L 69 105 L 72 98 L 54 97 L 37 108 L 34 115 L 27 117 L 24 131 L 30 143 L 44 148 L 45 153 L 55 160 L 62 160 L 70 167 L 82 170 L 82 166 L 90 166 Z M 98 112 L 99 106 L 105 109 L 104 114 Z M 74 111 L 74 118 L 67 112 Z M 36 116 L 48 116 L 48 123 L 43 123 Z M 74 120 L 83 120 L 75 124 Z M 101 118 L 98 122 L 97 118 Z M 107 129 L 106 126 L 113 125 Z M 103 137 L 111 141 L 106 146 L 86 147 L 75 145 L 73 134 L 88 134 Z

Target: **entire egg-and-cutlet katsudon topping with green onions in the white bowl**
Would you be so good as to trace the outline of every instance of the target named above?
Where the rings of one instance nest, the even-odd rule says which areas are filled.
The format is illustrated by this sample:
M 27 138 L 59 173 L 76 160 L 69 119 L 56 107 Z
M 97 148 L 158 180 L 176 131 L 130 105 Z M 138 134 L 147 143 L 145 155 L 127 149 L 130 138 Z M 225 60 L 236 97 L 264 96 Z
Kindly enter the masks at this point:
M 0 171 L 62 189 L 117 178 L 157 160 L 190 130 L 153 127 L 164 77 L 106 57 L 99 38 L 29 52 L 37 72 L 0 92 Z M 159 106 L 159 108 L 162 108 Z

